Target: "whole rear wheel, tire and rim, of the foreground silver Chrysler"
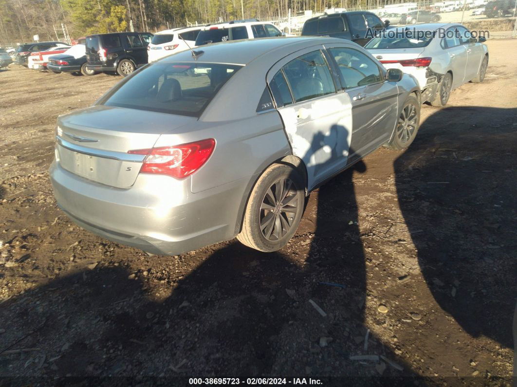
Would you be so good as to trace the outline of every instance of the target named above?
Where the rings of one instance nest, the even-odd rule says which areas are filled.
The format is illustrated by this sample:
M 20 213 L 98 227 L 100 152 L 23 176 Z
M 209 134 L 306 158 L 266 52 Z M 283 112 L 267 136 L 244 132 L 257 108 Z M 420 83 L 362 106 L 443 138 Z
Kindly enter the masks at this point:
M 299 172 L 272 164 L 251 191 L 237 239 L 259 251 L 280 250 L 296 232 L 304 207 L 305 184 Z

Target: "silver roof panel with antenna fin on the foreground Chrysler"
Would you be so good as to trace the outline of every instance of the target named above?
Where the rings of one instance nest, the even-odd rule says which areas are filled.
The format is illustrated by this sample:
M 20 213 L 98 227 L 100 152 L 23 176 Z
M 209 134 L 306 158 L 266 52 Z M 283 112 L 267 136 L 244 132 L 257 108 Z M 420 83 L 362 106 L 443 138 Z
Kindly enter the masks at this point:
M 280 59 L 291 52 L 310 47 L 311 45 L 344 42 L 350 43 L 350 41 L 346 41 L 344 39 L 318 36 L 270 37 L 212 43 L 195 48 L 194 51 L 203 52 L 201 56 L 198 56 L 198 59 L 196 60 L 197 63 L 247 65 L 258 57 L 267 57 L 268 63 L 271 63 L 271 60 L 274 60 L 275 58 Z M 286 51 L 287 48 L 289 49 L 289 52 Z M 181 51 L 161 60 L 168 62 L 194 61 L 190 50 Z

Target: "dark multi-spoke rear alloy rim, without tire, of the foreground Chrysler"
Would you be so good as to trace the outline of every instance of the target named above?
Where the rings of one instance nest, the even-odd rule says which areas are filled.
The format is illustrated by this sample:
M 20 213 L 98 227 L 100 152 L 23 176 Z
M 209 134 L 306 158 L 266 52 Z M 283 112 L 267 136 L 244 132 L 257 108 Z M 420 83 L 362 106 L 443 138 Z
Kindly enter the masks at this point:
M 301 210 L 294 182 L 288 178 L 275 181 L 266 191 L 260 208 L 260 229 L 269 241 L 281 239 L 294 226 Z

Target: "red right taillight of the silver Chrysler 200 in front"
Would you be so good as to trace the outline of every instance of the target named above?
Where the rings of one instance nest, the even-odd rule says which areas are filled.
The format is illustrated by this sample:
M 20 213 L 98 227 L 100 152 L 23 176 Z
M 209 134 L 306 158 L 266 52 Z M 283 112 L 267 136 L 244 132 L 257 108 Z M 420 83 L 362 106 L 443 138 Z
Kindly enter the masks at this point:
M 192 175 L 208 160 L 216 141 L 213 138 L 160 148 L 136 149 L 128 153 L 145 154 L 141 173 L 169 175 L 183 179 Z

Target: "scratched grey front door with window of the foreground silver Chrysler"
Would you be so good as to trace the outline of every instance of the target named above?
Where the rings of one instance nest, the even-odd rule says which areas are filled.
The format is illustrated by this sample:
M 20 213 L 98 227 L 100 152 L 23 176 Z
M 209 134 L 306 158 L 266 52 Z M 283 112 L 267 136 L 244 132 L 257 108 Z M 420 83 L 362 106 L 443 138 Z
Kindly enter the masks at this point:
M 352 101 L 352 141 L 348 162 L 389 140 L 398 113 L 398 87 L 370 56 L 348 45 L 325 45 Z

